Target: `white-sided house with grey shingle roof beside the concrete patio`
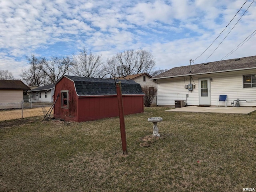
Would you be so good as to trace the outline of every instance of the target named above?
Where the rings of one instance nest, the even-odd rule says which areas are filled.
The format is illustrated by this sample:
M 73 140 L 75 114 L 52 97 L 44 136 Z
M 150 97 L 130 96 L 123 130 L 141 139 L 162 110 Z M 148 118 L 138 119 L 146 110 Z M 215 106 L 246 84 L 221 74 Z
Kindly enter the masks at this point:
M 157 105 L 216 106 L 219 95 L 227 95 L 228 106 L 256 106 L 256 56 L 174 67 L 153 78 L 157 82 Z M 223 106 L 224 104 L 222 104 Z

